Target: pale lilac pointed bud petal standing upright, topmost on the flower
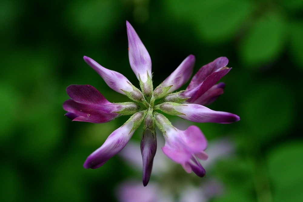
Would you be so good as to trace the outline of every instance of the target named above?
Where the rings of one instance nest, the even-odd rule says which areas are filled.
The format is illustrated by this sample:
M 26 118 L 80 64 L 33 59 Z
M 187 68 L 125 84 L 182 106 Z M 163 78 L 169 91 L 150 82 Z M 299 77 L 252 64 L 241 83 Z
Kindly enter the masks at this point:
M 140 75 L 142 82 L 145 83 L 148 78 L 147 74 L 151 78 L 151 58 L 135 29 L 128 21 L 126 21 L 126 28 L 130 66 L 137 78 L 139 79 Z

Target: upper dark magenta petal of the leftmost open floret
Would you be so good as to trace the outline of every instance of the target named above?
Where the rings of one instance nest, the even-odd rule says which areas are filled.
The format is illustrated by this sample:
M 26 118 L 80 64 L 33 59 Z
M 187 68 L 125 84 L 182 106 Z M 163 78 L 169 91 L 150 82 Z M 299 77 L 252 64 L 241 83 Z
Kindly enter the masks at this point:
M 70 98 L 84 104 L 111 104 L 105 97 L 91 85 L 70 85 L 66 88 Z

